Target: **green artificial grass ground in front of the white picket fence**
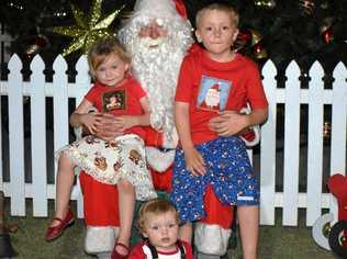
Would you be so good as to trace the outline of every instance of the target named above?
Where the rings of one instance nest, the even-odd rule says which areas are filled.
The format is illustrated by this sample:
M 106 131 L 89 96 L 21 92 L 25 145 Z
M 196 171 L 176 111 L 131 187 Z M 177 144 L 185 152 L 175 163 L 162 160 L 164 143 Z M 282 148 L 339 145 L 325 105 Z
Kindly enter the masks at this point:
M 53 243 L 44 240 L 44 234 L 49 218 L 32 217 L 31 206 L 27 206 L 25 217 L 5 216 L 7 224 L 18 224 L 16 233 L 10 234 L 11 244 L 19 254 L 19 259 L 82 259 L 93 258 L 83 251 L 85 225 L 82 219 L 77 219 L 75 225 L 67 228 L 64 235 Z M 53 205 L 49 205 L 49 209 Z M 72 209 L 75 206 L 72 205 Z M 49 210 L 52 217 L 53 210 Z M 304 226 L 300 218 L 298 227 L 282 227 L 281 214 L 277 215 L 276 226 L 260 226 L 259 259 L 334 259 L 338 258 L 332 251 L 318 247 L 311 236 L 311 227 Z M 233 255 L 233 257 L 231 256 Z M 240 245 L 230 251 L 230 258 L 242 258 Z

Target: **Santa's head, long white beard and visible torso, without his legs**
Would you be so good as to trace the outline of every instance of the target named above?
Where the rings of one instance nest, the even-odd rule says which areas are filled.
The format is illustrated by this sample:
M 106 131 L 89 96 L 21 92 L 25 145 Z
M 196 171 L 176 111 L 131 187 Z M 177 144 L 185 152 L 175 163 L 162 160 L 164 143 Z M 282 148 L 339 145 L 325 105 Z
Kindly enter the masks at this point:
M 192 27 L 184 16 L 182 1 L 137 0 L 134 14 L 117 34 L 132 54 L 133 74 L 149 98 L 147 161 L 155 187 L 165 191 L 170 190 L 167 169 L 178 142 L 172 111 L 176 85 L 183 56 L 193 43 Z

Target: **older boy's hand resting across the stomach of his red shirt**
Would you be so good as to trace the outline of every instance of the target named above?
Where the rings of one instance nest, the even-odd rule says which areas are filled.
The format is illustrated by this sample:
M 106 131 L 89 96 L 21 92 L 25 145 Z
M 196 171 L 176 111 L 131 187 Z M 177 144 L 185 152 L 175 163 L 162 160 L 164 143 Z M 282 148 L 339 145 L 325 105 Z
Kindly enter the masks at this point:
M 248 126 L 247 115 L 242 115 L 235 111 L 219 113 L 219 116 L 211 119 L 209 127 L 216 132 L 219 136 L 232 136 Z

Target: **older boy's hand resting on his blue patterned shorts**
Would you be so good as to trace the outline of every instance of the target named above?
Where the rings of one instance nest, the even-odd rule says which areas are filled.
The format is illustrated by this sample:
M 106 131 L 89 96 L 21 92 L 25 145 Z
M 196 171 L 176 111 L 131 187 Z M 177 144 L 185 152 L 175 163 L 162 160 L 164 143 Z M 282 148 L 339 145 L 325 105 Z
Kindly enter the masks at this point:
M 184 158 L 186 167 L 191 172 L 191 174 L 199 177 L 206 173 L 203 157 L 195 148 L 184 150 Z

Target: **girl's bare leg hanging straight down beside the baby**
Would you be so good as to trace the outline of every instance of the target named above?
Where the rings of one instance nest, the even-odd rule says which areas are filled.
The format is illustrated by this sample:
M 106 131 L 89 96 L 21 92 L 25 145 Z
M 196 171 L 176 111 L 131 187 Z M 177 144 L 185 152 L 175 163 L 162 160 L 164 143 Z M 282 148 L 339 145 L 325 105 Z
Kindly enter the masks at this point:
M 120 234 L 117 243 L 128 247 L 135 209 L 135 188 L 126 180 L 119 181 L 116 187 L 120 205 Z M 127 254 L 126 249 L 122 246 L 116 246 L 115 249 L 121 255 Z

